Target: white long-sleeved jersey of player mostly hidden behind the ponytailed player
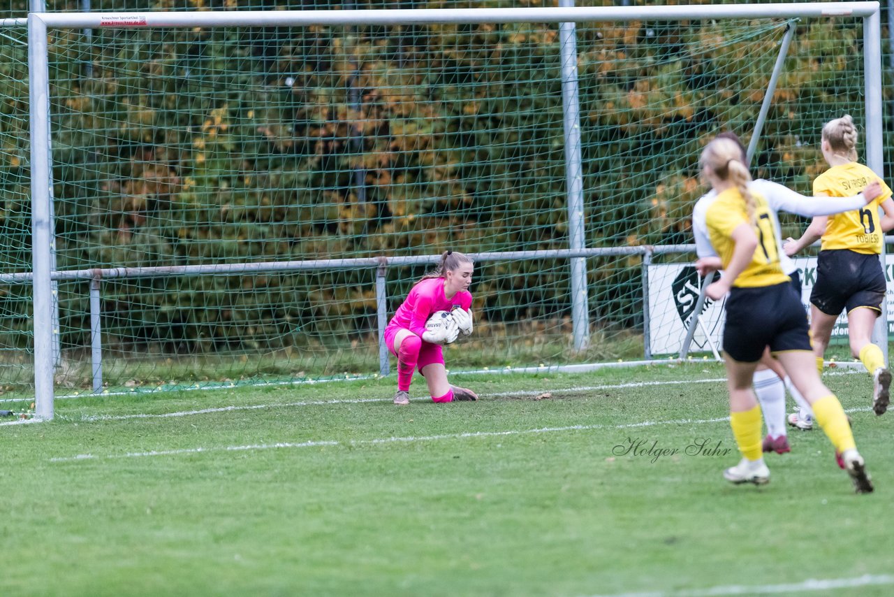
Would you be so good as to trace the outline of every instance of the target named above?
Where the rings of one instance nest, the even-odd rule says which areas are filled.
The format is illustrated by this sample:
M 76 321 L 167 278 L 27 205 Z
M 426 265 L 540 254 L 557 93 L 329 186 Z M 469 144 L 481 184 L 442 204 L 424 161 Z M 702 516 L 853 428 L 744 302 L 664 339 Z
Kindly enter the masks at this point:
M 789 187 L 780 183 L 760 178 L 748 184 L 749 189 L 754 189 L 763 195 L 770 206 L 770 212 L 773 217 L 773 225 L 776 230 L 776 243 L 779 245 L 780 266 L 786 274 L 792 274 L 797 270 L 795 262 L 792 261 L 784 251 L 782 251 L 782 238 L 780 237 L 780 223 L 777 213 L 785 211 L 791 214 L 797 214 L 804 217 L 831 216 L 843 211 L 851 209 L 861 209 L 866 200 L 863 194 L 857 194 L 852 197 L 805 197 L 798 192 L 794 192 Z M 704 214 L 708 207 L 717 198 L 717 192 L 713 190 L 705 193 L 701 199 L 696 201 L 696 207 L 692 209 L 692 232 L 696 237 L 696 255 L 699 259 L 704 257 L 717 257 L 717 252 L 711 244 L 708 236 L 708 226 L 704 222 Z

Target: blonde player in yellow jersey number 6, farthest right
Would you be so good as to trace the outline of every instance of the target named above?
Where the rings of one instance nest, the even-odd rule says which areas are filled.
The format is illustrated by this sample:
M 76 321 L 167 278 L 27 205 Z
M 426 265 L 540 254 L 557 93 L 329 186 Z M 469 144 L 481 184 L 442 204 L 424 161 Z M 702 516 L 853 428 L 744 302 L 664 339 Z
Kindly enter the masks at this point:
M 822 237 L 817 260 L 816 284 L 810 294 L 810 330 L 814 338 L 816 366 L 822 372 L 822 354 L 829 345 L 832 328 L 842 309 L 848 310 L 850 352 L 873 375 L 873 410 L 884 414 L 890 402 L 891 374 L 881 348 L 872 343 L 875 320 L 887 292 L 881 269 L 884 233 L 894 227 L 894 200 L 881 178 L 856 159 L 857 132 L 854 120 L 845 115 L 822 127 L 822 157 L 829 169 L 814 180 L 814 195 L 846 197 L 879 181 L 881 196 L 864 209 L 837 216 L 814 217 L 804 235 L 789 239 L 785 252 L 791 256 Z M 879 217 L 881 207 L 884 216 Z M 810 413 L 791 415 L 792 425 L 809 421 Z

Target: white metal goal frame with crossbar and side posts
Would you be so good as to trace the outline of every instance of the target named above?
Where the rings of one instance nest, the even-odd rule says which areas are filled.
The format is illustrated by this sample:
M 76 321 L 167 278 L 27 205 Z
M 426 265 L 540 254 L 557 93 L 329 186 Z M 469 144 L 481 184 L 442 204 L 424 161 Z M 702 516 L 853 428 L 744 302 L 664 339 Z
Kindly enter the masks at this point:
M 563 1 L 561 4 L 566 4 Z M 839 2 L 805 4 L 732 4 L 675 6 L 553 7 L 501 9 L 424 9 L 424 10 L 347 10 L 347 11 L 246 11 L 176 13 L 30 13 L 28 25 L 28 62 L 30 83 L 31 139 L 31 217 L 32 284 L 34 308 L 35 417 L 50 420 L 54 415 L 54 279 L 52 157 L 50 151 L 50 98 L 47 32 L 54 29 L 97 28 L 189 28 L 233 26 L 308 26 L 308 25 L 401 25 L 447 23 L 576 23 L 582 21 L 681 21 L 691 19 L 755 19 L 797 17 L 822 18 L 848 16 L 863 18 L 865 156 L 867 166 L 883 175 L 881 111 L 881 9 L 878 2 Z M 13 22 L 14 21 L 14 22 Z M 26 20 L 6 20 L 6 24 L 24 25 Z M 572 32 L 573 35 L 573 32 Z M 573 42 L 573 38 L 571 38 Z M 574 83 L 577 82 L 576 69 Z M 563 68 L 563 87 L 566 73 Z M 576 101 L 576 99 L 575 99 Z M 568 124 L 566 124 L 568 125 Z M 573 125 L 572 125 L 573 128 Z M 581 178 L 568 175 L 569 224 L 575 200 L 582 200 Z M 577 205 L 582 206 L 582 203 Z M 582 211 L 581 211 L 582 213 Z M 583 237 L 583 225 L 580 237 Z M 572 246 L 574 236 L 572 235 Z M 584 258 L 572 258 L 572 271 L 583 272 Z M 586 272 L 585 272 L 586 273 Z M 576 277 L 572 277 L 573 280 Z M 578 278 L 579 279 L 579 278 Z M 586 275 L 583 278 L 586 281 Z M 586 286 L 572 286 L 573 311 L 586 309 Z M 879 318 L 873 342 L 887 358 L 887 313 Z M 694 324 L 695 325 L 695 322 Z M 576 347 L 586 346 L 586 330 L 575 328 Z

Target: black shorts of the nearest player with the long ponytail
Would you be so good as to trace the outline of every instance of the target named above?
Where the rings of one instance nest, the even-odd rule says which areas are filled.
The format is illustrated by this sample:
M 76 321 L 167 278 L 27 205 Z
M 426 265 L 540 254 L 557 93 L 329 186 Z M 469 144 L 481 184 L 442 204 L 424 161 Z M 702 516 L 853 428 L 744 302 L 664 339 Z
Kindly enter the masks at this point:
M 811 350 L 807 313 L 790 282 L 733 288 L 727 297 L 723 351 L 738 362 L 756 362 L 767 346 L 774 353 Z

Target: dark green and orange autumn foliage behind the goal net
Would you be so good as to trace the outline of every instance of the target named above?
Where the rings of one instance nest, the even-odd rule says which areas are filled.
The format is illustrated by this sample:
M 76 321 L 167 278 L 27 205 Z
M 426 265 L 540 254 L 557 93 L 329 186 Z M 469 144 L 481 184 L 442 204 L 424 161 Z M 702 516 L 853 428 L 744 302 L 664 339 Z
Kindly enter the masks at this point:
M 612 3 L 578 5 L 593 4 Z M 653 3 L 635 4 L 642 21 L 578 24 L 590 247 L 691 242 L 691 205 L 704 192 L 698 152 L 724 129 L 748 141 L 785 29 L 650 22 Z M 127 0 L 93 10 L 541 5 Z M 13 3 L 10 14 L 21 9 Z M 797 34 L 755 175 L 809 192 L 823 169 L 822 123 L 851 112 L 864 124 L 862 28 L 790 25 Z M 567 248 L 558 35 L 554 24 L 55 32 L 57 268 Z M 0 267 L 11 272 L 30 269 L 27 63 L 21 45 L 2 54 Z M 802 224 L 787 220 L 793 232 Z M 587 260 L 603 340 L 641 329 L 640 265 L 639 256 Z M 390 269 L 390 311 L 424 269 Z M 373 274 L 109 280 L 105 345 L 170 355 L 375 344 Z M 567 261 L 483 263 L 477 276 L 484 345 L 567 342 Z M 71 351 L 88 342 L 85 289 L 60 287 Z M 28 328 L 27 293 L 4 292 L 8 327 Z M 550 350 L 531 358 L 568 358 Z

